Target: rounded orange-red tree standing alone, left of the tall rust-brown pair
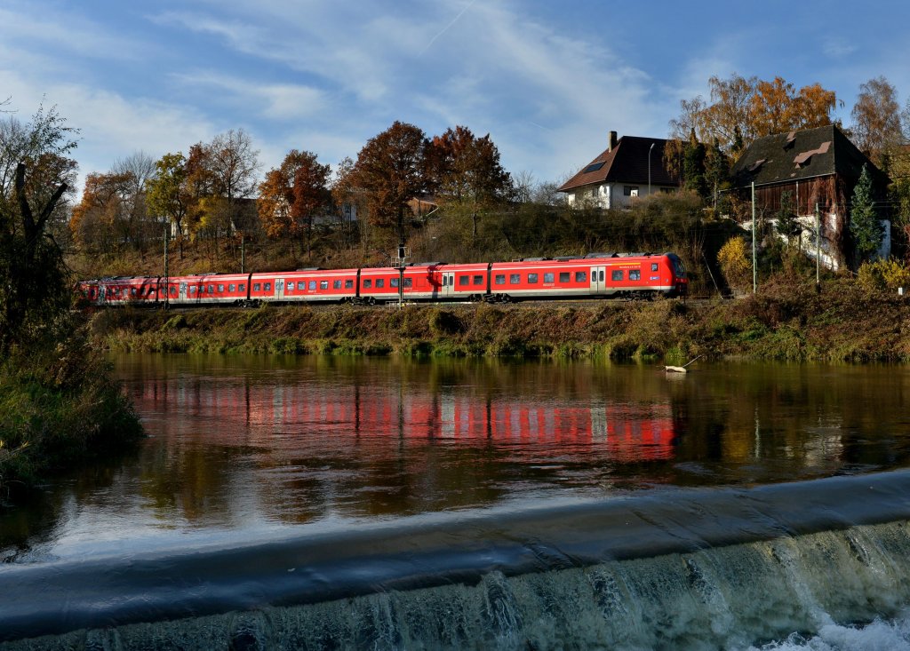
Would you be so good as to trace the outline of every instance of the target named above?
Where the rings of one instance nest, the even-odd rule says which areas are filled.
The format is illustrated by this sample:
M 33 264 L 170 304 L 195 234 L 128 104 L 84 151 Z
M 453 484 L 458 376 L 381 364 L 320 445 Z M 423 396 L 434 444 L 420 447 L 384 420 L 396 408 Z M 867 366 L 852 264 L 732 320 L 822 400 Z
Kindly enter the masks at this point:
M 259 185 L 259 219 L 269 237 L 307 235 L 311 253 L 313 217 L 329 204 L 329 165 L 317 156 L 292 149 L 281 166 L 266 174 Z

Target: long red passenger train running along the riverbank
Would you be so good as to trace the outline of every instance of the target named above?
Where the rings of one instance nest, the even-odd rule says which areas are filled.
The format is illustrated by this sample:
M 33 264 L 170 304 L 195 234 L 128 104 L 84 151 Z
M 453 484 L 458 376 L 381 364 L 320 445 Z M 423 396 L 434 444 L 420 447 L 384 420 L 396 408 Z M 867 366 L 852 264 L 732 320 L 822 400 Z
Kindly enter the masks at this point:
M 606 253 L 454 265 L 117 277 L 82 281 L 77 289 L 91 305 L 374 305 L 399 298 L 508 302 L 674 297 L 686 295 L 688 283 L 678 255 Z

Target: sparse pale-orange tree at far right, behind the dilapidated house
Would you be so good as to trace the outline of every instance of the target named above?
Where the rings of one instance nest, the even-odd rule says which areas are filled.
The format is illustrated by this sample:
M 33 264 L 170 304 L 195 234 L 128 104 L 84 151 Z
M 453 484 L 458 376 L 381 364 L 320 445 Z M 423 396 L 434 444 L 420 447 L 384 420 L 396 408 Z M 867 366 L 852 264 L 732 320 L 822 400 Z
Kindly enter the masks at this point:
M 854 142 L 872 162 L 886 169 L 887 158 L 904 143 L 895 87 L 884 76 L 861 84 L 851 112 Z

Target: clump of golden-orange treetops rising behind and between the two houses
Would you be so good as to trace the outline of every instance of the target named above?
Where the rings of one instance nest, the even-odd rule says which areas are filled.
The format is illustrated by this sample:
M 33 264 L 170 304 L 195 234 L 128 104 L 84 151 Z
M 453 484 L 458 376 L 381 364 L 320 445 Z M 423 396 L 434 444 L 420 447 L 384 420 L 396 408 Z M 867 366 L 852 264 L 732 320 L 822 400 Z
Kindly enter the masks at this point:
M 677 143 L 675 150 L 667 149 L 671 163 L 693 130 L 699 142 L 716 138 L 723 153 L 735 158 L 756 138 L 830 125 L 837 105 L 834 91 L 818 84 L 796 90 L 781 77 L 764 81 L 736 74 L 729 79 L 713 76 L 708 85 L 710 101 L 701 96 L 682 100 L 681 114 L 670 121 Z

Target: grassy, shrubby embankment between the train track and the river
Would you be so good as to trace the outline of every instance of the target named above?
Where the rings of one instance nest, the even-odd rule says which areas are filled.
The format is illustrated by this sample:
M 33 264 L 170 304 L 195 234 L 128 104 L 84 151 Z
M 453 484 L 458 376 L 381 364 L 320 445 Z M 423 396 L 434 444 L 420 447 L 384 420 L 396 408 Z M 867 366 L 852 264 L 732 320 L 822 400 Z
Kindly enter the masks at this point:
M 869 295 L 848 279 L 827 281 L 817 295 L 790 278 L 708 303 L 127 308 L 96 314 L 92 326 L 116 351 L 903 362 L 908 316 L 903 299 Z

